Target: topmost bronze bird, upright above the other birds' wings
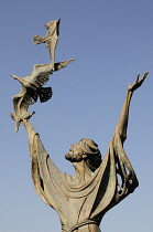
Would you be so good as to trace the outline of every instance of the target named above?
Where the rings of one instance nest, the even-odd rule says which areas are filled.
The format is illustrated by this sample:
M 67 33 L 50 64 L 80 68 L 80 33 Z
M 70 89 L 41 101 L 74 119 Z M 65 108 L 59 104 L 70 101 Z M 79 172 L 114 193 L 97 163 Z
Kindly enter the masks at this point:
M 40 44 L 40 43 L 46 44 L 46 48 L 48 49 L 48 52 L 50 52 L 53 71 L 54 71 L 54 63 L 55 63 L 55 50 L 56 50 L 57 41 L 59 38 L 59 22 L 61 22 L 61 19 L 51 21 L 45 24 L 45 28 L 47 30 L 46 36 L 44 38 L 40 35 L 33 36 L 34 44 Z

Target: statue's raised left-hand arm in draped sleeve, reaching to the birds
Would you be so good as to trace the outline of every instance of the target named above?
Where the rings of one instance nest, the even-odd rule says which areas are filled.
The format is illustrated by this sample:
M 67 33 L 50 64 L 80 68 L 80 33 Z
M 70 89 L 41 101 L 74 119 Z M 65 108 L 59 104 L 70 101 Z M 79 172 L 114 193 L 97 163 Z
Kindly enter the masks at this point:
M 56 189 L 54 186 L 57 186 L 59 182 L 58 180 L 61 180 L 61 171 L 48 157 L 48 154 L 46 152 L 39 134 L 31 125 L 31 122 L 24 119 L 22 123 L 29 136 L 31 173 L 35 191 L 46 204 L 56 210 L 57 205 L 54 201 L 54 194 L 57 196 L 57 193 L 54 193 Z

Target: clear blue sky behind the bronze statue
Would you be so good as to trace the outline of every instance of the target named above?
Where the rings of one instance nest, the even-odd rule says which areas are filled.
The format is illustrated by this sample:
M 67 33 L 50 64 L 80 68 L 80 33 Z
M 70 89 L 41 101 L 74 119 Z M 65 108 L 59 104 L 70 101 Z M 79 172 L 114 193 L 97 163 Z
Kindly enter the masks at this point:
M 44 24 L 62 19 L 56 62 L 75 62 L 51 77 L 53 97 L 36 103 L 32 124 L 57 167 L 69 145 L 83 137 L 107 152 L 129 83 L 149 71 L 132 99 L 127 154 L 140 187 L 109 211 L 102 232 L 150 232 L 153 215 L 153 1 L 152 0 L 6 0 L 0 7 L 1 156 L 0 232 L 59 232 L 58 217 L 35 193 L 30 171 L 28 137 L 23 126 L 14 133 L 11 97 L 21 89 L 10 74 L 26 76 L 33 64 L 48 63 Z

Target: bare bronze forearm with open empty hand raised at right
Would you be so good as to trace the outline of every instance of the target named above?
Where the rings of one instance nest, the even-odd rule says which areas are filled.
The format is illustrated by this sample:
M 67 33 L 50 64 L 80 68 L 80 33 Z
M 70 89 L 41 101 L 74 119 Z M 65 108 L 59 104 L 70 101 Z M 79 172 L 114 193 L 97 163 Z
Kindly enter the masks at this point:
M 130 109 L 130 102 L 133 95 L 133 92 L 139 88 L 144 80 L 146 78 L 149 73 L 144 73 L 143 77 L 140 80 L 140 74 L 136 77 L 135 83 L 129 85 L 125 101 L 123 103 L 123 107 L 121 110 L 120 119 L 118 123 L 118 131 L 121 137 L 121 141 L 123 143 L 127 138 L 127 129 L 128 129 L 128 119 L 129 119 L 129 109 Z

